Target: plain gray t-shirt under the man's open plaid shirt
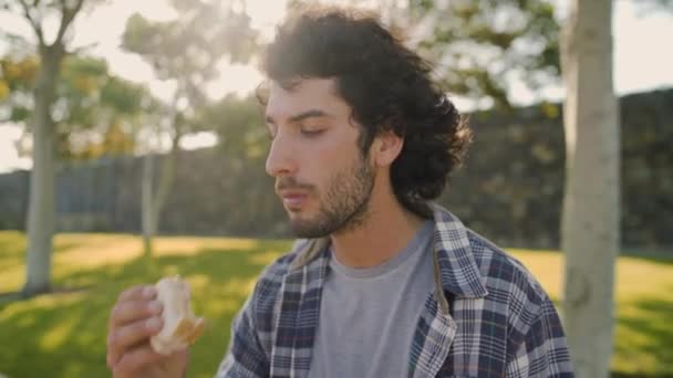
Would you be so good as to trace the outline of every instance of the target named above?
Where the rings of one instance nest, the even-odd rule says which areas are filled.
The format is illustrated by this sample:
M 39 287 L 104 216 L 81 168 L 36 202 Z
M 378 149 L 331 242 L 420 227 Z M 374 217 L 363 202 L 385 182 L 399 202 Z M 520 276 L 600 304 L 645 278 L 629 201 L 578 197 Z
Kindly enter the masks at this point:
M 426 221 L 392 260 L 352 269 L 334 255 L 322 288 L 310 378 L 406 377 L 412 338 L 434 287 Z

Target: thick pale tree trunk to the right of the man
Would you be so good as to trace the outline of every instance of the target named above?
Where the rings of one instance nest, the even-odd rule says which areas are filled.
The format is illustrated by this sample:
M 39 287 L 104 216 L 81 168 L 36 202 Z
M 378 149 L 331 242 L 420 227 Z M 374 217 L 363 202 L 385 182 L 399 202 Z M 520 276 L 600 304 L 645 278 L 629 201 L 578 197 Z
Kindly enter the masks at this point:
M 610 0 L 572 0 L 563 30 L 563 316 L 580 378 L 608 377 L 612 354 L 620 132 L 612 86 L 611 25 Z

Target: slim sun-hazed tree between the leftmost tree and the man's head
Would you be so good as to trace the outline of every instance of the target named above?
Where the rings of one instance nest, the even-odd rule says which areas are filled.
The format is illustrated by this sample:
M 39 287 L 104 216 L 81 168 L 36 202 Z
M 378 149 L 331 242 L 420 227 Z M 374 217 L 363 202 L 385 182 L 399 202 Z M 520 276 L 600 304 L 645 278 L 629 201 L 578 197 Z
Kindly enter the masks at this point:
M 255 52 L 256 33 L 244 1 L 172 0 L 179 13 L 172 21 L 153 22 L 139 14 L 126 23 L 122 46 L 151 63 L 158 78 L 175 84 L 165 123 L 172 144 L 163 159 L 158 185 L 153 188 L 154 162 L 147 154 L 143 175 L 143 240 L 145 256 L 173 186 L 180 138 L 188 132 L 195 109 L 208 103 L 206 87 L 218 77 L 218 63 L 247 62 Z

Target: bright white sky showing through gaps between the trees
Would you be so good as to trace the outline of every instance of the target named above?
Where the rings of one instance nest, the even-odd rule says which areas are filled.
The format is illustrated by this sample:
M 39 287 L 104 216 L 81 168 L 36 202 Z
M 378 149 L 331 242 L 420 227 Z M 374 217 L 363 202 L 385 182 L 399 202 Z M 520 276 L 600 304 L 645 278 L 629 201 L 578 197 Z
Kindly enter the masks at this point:
M 324 1 L 323 1 L 324 2 Z M 330 2 L 339 2 L 336 0 Z M 560 8 L 567 0 L 559 0 Z M 177 14 L 166 7 L 166 0 L 108 0 L 106 4 L 83 14 L 76 20 L 77 31 L 73 39 L 76 46 L 90 46 L 91 54 L 103 56 L 108 61 L 112 73 L 128 80 L 146 83 L 153 93 L 168 98 L 173 86 L 154 78 L 152 69 L 135 54 L 123 52 L 118 45 L 126 19 L 134 12 L 153 20 L 168 20 Z M 247 10 L 252 25 L 262 31 L 265 39 L 270 39 L 273 28 L 284 14 L 284 0 L 247 0 Z M 618 95 L 673 86 L 673 51 L 663 49 L 661 41 L 673 41 L 673 15 L 671 13 L 650 12 L 633 6 L 633 1 L 614 2 L 614 88 Z M 0 13 L 2 29 L 24 35 L 31 30 L 22 20 Z M 257 86 L 261 75 L 253 66 L 222 65 L 220 80 L 209 88 L 216 98 L 228 92 L 249 93 Z M 515 86 L 515 101 L 529 103 L 534 96 L 524 87 Z M 562 98 L 562 88 L 551 90 L 550 97 Z M 460 108 L 462 104 L 457 104 Z M 19 168 L 30 168 L 29 158 L 21 158 L 15 150 L 15 140 L 21 137 L 21 127 L 0 124 L 0 172 Z M 197 148 L 211 145 L 215 138 L 200 134 L 185 138 L 185 148 Z

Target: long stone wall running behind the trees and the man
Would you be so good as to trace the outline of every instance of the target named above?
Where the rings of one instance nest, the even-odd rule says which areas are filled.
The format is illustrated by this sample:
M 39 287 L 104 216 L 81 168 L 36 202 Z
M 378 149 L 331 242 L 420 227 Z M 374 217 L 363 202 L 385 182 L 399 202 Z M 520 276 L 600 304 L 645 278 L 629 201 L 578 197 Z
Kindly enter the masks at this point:
M 621 98 L 622 240 L 673 245 L 673 90 Z M 495 242 L 555 248 L 565 177 L 560 106 L 473 114 L 475 143 L 439 202 Z M 62 231 L 138 232 L 142 161 L 105 159 L 62 166 Z M 0 175 L 0 228 L 22 229 L 28 172 Z M 183 153 L 162 232 L 289 235 L 263 170 L 263 157 L 240 159 L 218 147 Z

